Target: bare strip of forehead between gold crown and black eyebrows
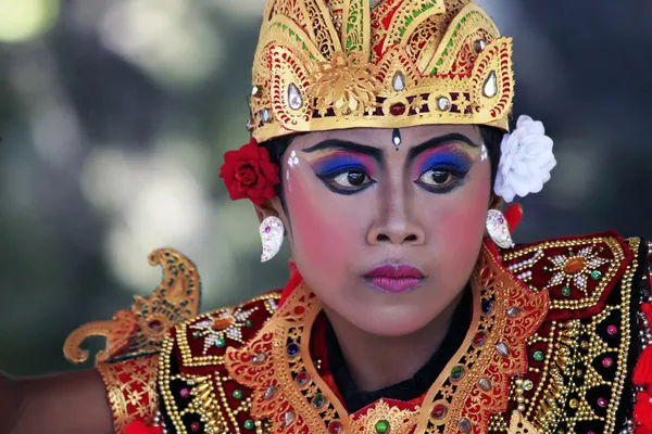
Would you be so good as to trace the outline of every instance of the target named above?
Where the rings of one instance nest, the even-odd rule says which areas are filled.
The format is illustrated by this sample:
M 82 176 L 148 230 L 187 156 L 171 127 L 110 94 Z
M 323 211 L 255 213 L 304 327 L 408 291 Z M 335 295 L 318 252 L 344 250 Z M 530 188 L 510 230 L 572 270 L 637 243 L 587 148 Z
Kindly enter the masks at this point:
M 315 131 L 301 135 L 292 140 L 292 148 L 305 149 L 324 140 L 343 140 L 380 149 L 393 148 L 392 128 L 352 128 L 328 131 Z M 474 125 L 424 125 L 418 127 L 400 128 L 402 145 L 410 148 L 430 139 L 460 133 L 469 138 L 474 143 L 481 143 L 480 130 Z

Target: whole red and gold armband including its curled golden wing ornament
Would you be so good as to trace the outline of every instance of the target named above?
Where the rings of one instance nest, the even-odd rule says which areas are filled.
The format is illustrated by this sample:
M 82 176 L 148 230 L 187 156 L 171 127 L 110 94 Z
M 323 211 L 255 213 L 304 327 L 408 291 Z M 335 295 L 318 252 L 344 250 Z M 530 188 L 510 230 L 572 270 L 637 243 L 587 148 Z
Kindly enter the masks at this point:
M 196 317 L 201 284 L 195 265 L 184 255 L 159 250 L 149 256 L 163 268 L 163 278 L 149 298 L 136 297 L 131 309 L 121 310 L 113 321 L 93 322 L 75 330 L 64 354 L 74 363 L 88 359 L 79 345 L 89 336 L 103 336 L 106 347 L 98 353 L 100 372 L 113 411 L 115 432 L 135 420 L 151 423 L 158 408 L 159 352 L 174 324 Z

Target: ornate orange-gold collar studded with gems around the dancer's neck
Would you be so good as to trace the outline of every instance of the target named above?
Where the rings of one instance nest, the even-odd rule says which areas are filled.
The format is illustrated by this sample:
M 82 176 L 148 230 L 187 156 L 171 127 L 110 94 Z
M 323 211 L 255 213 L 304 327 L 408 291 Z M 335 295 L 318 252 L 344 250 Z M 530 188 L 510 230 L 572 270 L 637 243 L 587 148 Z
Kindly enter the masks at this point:
M 464 343 L 421 407 L 384 398 L 347 411 L 310 357 L 322 306 L 303 283 L 255 339 L 227 349 L 228 373 L 253 390 L 251 413 L 274 432 L 487 432 L 490 416 L 506 409 L 510 378 L 526 372 L 526 340 L 549 309 L 548 292 L 530 291 L 497 257 L 485 244 L 471 279 L 473 317 Z

